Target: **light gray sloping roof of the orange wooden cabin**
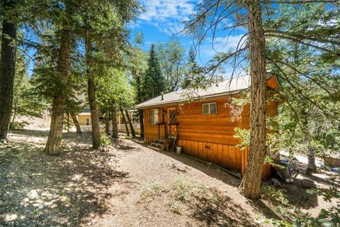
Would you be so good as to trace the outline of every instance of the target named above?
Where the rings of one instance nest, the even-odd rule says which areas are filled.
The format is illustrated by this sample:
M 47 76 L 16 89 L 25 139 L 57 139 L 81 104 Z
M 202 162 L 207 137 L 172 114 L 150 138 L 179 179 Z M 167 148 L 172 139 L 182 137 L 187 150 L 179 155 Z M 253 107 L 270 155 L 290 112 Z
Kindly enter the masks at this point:
M 241 92 L 242 90 L 248 89 L 250 86 L 250 77 L 245 75 L 242 77 L 235 77 L 232 79 L 226 79 L 223 82 L 217 84 L 217 86 L 208 87 L 207 89 L 198 89 L 198 91 L 191 91 L 188 89 L 183 89 L 181 91 L 170 92 L 164 94 L 164 99 L 162 96 L 157 96 L 148 101 L 137 104 L 135 109 L 144 109 L 149 106 L 162 106 L 166 104 L 175 104 L 181 101 L 188 100 L 188 96 L 191 99 L 208 98 L 213 96 L 220 96 L 224 94 L 234 94 Z

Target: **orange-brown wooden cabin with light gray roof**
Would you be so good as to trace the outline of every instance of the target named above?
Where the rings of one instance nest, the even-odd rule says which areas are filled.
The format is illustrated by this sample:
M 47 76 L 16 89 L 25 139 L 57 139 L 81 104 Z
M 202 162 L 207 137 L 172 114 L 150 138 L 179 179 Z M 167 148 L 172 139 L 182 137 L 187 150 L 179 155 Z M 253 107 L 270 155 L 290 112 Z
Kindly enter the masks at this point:
M 217 86 L 194 92 L 190 101 L 188 90 L 170 92 L 135 106 L 144 110 L 146 142 L 181 146 L 183 152 L 201 160 L 215 163 L 227 170 L 236 170 L 243 177 L 248 149 L 240 150 L 240 140 L 234 138 L 234 128 L 249 128 L 249 104 L 240 117 L 232 119 L 227 102 L 249 89 L 249 75 L 227 79 Z M 278 89 L 275 75 L 267 75 L 268 89 Z M 278 103 L 267 104 L 267 114 L 277 114 Z M 264 165 L 263 177 L 271 175 Z

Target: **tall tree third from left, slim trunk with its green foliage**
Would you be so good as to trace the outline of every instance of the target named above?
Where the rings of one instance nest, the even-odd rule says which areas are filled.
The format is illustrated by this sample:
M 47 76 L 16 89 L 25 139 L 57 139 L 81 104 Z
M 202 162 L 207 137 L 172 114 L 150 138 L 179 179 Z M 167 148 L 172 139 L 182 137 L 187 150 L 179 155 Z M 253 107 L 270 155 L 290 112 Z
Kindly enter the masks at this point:
M 85 43 L 85 65 L 93 148 L 101 148 L 96 80 L 101 67 L 125 67 L 122 52 L 128 50 L 128 31 L 125 24 L 132 21 L 139 9 L 137 1 L 87 1 L 81 12 L 80 35 Z

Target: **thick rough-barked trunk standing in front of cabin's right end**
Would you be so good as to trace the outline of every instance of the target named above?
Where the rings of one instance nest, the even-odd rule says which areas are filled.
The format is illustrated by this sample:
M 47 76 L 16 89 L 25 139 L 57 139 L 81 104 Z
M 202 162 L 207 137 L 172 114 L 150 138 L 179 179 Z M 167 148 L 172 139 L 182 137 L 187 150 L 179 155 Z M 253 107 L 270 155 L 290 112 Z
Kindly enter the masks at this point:
M 266 40 L 260 0 L 244 1 L 248 11 L 251 111 L 248 164 L 240 189 L 246 198 L 258 199 L 266 154 Z

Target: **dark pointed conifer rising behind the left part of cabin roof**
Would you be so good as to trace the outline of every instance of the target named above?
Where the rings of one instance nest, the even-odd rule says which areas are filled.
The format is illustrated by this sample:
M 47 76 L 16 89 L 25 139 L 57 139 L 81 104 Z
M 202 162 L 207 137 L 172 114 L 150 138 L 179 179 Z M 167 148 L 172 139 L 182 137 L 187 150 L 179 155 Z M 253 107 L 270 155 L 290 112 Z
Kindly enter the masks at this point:
M 154 44 L 151 45 L 147 71 L 142 82 L 142 96 L 151 99 L 165 91 L 165 79 L 162 74 Z

